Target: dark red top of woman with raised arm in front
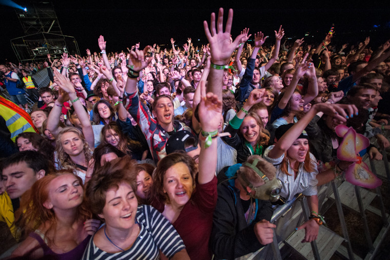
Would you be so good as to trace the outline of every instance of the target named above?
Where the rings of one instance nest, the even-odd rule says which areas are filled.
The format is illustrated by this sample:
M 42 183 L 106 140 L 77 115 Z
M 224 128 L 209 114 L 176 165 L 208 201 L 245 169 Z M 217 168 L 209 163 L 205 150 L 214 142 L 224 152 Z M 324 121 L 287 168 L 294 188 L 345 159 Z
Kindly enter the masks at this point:
M 216 176 L 206 184 L 199 184 L 196 179 L 196 190 L 192 193 L 178 219 L 172 223 L 183 239 L 191 259 L 211 259 L 212 254 L 208 250 L 208 242 L 217 197 Z M 152 203 L 152 206 L 160 212 L 164 211 L 163 203 Z

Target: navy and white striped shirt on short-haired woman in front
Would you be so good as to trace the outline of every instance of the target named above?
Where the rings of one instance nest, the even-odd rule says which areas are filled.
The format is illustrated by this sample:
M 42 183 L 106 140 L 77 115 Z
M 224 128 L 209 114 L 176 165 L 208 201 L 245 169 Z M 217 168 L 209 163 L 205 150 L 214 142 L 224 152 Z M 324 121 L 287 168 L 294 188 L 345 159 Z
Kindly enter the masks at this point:
M 131 248 L 124 252 L 107 253 L 94 244 L 92 236 L 82 259 L 159 259 L 159 250 L 171 258 L 185 249 L 172 224 L 153 207 L 138 206 L 135 218 L 140 226 L 140 234 Z

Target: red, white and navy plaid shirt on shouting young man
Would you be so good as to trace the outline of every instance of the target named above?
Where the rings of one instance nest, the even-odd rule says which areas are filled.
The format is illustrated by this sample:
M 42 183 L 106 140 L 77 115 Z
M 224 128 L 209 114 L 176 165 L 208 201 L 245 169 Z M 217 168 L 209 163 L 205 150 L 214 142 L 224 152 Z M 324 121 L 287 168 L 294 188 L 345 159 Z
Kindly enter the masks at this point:
M 127 110 L 141 127 L 141 131 L 144 133 L 146 141 L 148 142 L 153 160 L 157 163 L 160 159 L 167 155 L 165 151 L 165 144 L 168 141 L 169 134 L 154 118 L 151 117 L 149 109 L 140 102 L 138 91 L 131 94 L 127 93 L 127 96 L 129 97 Z M 173 128 L 175 132 L 181 130 L 191 132 L 191 129 L 188 126 L 178 120 L 173 122 Z

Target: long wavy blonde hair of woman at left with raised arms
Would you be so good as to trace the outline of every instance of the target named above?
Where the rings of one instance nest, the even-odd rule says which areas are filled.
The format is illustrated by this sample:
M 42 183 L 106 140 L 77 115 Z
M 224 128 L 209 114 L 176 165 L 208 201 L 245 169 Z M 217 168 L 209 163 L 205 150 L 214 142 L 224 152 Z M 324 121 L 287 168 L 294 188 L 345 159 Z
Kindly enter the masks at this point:
M 61 137 L 65 133 L 68 133 L 68 132 L 73 132 L 73 133 L 77 134 L 80 137 L 80 139 L 83 141 L 83 144 L 84 144 L 83 152 L 84 152 L 84 156 L 85 156 L 85 161 L 88 164 L 92 158 L 92 151 L 89 148 L 88 142 L 85 139 L 83 132 L 81 132 L 80 129 L 78 129 L 76 127 L 69 126 L 69 127 L 65 127 L 64 129 L 62 129 L 61 132 L 59 133 L 57 139 L 55 140 L 55 142 L 56 142 L 55 152 L 56 152 L 57 159 L 61 163 L 62 169 L 75 169 L 76 168 L 76 164 L 72 161 L 70 156 L 64 151 L 64 148 L 62 147 Z

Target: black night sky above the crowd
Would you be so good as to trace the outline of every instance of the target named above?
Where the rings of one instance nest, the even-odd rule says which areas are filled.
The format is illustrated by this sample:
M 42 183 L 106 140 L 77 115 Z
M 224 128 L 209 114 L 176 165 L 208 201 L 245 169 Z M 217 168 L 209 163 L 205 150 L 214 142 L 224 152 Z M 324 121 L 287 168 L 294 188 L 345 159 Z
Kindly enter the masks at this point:
M 27 8 L 29 6 L 28 1 L 15 2 Z M 200 45 L 206 42 L 203 21 L 209 22 L 210 13 L 218 12 L 219 7 L 225 9 L 225 19 L 227 9 L 234 10 L 233 36 L 249 27 L 252 34 L 256 30 L 269 35 L 266 44 L 274 44 L 274 30 L 281 24 L 286 32 L 285 38 L 296 40 L 309 32 L 309 36 L 305 37 L 307 43 L 314 41 L 318 44 L 332 24 L 335 24 L 336 31 L 334 43 L 348 41 L 355 44 L 370 35 L 372 42 L 369 46 L 374 48 L 390 39 L 389 3 L 367 1 L 370 4 L 358 6 L 357 2 L 352 1 L 334 5 L 329 1 L 307 2 L 310 4 L 304 1 L 183 2 L 172 4 L 174 1 L 160 1 L 159 4 L 152 4 L 147 1 L 80 0 L 53 3 L 63 33 L 75 37 L 82 55 L 85 55 L 86 48 L 99 51 L 97 38 L 100 34 L 105 36 L 107 51 L 126 50 L 126 47 L 137 42 L 141 42 L 141 47 L 153 43 L 169 47 L 171 37 L 180 46 L 187 37 L 192 38 L 194 45 Z M 247 3 L 256 4 L 250 6 Z M 5 59 L 15 62 L 10 40 L 24 35 L 22 26 L 11 7 L 0 6 L 0 18 L 0 62 Z

